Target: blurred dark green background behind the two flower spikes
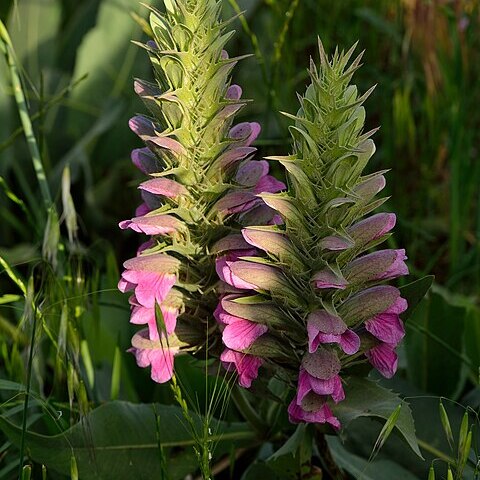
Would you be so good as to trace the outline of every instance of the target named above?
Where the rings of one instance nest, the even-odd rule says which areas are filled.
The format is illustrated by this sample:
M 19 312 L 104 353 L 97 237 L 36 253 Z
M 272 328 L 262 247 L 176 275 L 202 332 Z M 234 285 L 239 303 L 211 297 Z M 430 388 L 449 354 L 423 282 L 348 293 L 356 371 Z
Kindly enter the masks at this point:
M 409 320 L 402 370 L 391 385 L 405 395 L 441 395 L 477 408 L 478 0 L 225 0 L 225 18 L 239 11 L 228 48 L 231 56 L 252 54 L 238 64 L 234 80 L 254 102 L 238 120 L 262 124 L 261 156 L 289 152 L 289 120 L 280 111 L 298 108 L 309 59 L 318 61 L 317 35 L 330 52 L 357 40 L 357 50 L 366 50 L 356 83 L 362 91 L 377 84 L 366 103 L 368 128 L 381 127 L 370 168 L 390 169 L 386 208 L 398 217 L 392 245 L 407 249 L 414 277 L 436 277 Z M 148 372 L 123 354 L 131 327 L 127 299 L 115 291 L 119 266 L 137 241 L 117 224 L 139 202 L 140 176 L 129 159 L 139 143 L 127 122 L 143 111 L 133 78 L 151 77 L 146 55 L 131 43 L 145 39 L 146 14 L 135 0 L 0 2 L 51 191 L 62 211 L 62 173 L 69 166 L 71 184 L 64 178 L 63 192 L 70 192 L 78 214 L 78 240 L 70 242 L 61 218 L 62 274 L 44 272 L 35 285 L 36 292 L 44 288 L 48 315 L 34 387 L 58 401 L 72 398 L 65 382 L 84 385 L 94 402 L 171 400 L 167 388 L 152 385 Z M 48 270 L 41 261 L 46 218 L 3 59 L 0 119 L 0 256 L 26 281 L 35 269 Z M 23 300 L 15 298 L 21 292 L 2 269 L 0 376 L 23 382 L 29 327 Z M 49 339 L 49 331 L 53 339 L 64 335 L 64 344 Z M 71 353 L 62 363 L 65 352 Z M 187 390 L 201 388 L 183 363 Z M 75 381 L 70 364 L 78 369 Z

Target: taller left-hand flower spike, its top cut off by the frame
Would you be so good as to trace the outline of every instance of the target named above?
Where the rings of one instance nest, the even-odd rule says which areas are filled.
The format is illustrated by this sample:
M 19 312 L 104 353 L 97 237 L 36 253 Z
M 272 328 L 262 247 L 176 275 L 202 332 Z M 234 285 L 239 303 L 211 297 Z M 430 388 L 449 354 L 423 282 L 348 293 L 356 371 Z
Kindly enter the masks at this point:
M 129 124 L 145 143 L 132 162 L 149 178 L 139 186 L 143 203 L 135 216 L 120 223 L 149 237 L 124 263 L 119 289 L 133 292 L 131 322 L 145 328 L 131 351 L 156 382 L 171 378 L 180 349 L 198 350 L 215 327 L 208 324 L 217 302 L 214 245 L 238 221 L 274 222 L 257 195 L 285 188 L 268 175 L 266 161 L 251 160 L 260 126 L 232 126 L 246 101 L 231 84 L 238 59 L 224 50 L 233 32 L 219 19 L 221 2 L 164 4 L 165 13 L 151 9 L 153 40 L 143 45 L 155 81 L 134 83 L 149 115 Z

